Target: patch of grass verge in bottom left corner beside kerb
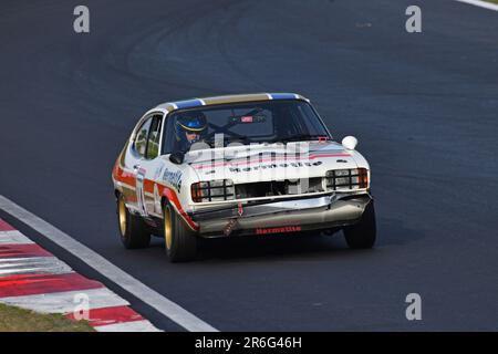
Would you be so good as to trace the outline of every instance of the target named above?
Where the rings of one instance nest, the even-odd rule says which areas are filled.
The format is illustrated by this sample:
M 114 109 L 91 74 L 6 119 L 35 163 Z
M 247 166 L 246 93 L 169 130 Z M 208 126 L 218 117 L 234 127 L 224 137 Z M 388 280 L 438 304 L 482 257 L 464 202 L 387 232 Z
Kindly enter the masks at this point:
M 86 321 L 0 304 L 0 332 L 94 332 Z

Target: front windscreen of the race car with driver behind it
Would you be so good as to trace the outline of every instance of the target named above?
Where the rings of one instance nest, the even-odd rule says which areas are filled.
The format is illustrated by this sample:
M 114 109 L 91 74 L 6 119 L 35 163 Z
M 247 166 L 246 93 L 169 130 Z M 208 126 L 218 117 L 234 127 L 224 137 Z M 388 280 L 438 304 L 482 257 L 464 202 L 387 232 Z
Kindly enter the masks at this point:
M 308 102 L 300 100 L 224 104 L 174 112 L 167 118 L 164 153 L 187 150 L 188 119 L 198 124 L 196 142 L 210 147 L 231 143 L 279 143 L 331 138 Z M 199 123 L 200 122 L 200 123 Z M 203 125 L 201 123 L 206 123 Z M 194 132 L 193 131 L 193 132 Z M 215 142 L 216 138 L 216 142 Z

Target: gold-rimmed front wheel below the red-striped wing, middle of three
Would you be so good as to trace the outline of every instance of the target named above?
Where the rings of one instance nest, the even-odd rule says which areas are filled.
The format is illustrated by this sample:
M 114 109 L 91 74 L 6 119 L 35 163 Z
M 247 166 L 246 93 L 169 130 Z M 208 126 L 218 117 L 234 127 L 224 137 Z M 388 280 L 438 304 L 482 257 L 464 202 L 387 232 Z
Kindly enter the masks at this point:
M 197 253 L 197 236 L 168 202 L 163 206 L 163 227 L 166 253 L 170 262 L 193 260 Z

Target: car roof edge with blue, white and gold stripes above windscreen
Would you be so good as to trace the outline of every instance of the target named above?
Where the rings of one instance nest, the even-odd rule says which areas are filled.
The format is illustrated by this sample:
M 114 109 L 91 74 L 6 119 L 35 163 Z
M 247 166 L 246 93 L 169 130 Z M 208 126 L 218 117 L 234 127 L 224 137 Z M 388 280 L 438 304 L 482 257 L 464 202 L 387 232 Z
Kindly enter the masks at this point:
M 271 100 L 304 100 L 309 102 L 308 98 L 295 93 L 252 93 L 242 95 L 225 95 L 225 96 L 190 98 L 176 102 L 166 102 L 159 104 L 156 108 L 172 112 L 176 110 L 186 110 L 217 104 L 251 102 L 251 101 L 271 101 Z

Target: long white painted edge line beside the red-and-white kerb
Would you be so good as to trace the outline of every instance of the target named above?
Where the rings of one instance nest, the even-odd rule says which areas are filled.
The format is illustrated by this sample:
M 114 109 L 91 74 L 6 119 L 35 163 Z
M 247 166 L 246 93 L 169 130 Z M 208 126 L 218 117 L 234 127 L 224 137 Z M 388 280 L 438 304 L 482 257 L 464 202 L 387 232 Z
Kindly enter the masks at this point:
M 59 230 L 3 196 L 0 196 L 0 209 L 24 222 L 58 246 L 64 248 L 68 252 L 84 261 L 102 275 L 141 299 L 149 306 L 156 309 L 159 313 L 176 322 L 187 331 L 217 332 L 217 330 L 208 323 L 198 319 L 175 302 L 166 299 L 155 290 L 148 288 L 95 251 L 73 239 L 68 233 Z

